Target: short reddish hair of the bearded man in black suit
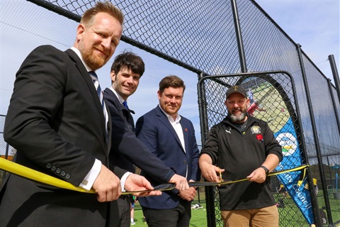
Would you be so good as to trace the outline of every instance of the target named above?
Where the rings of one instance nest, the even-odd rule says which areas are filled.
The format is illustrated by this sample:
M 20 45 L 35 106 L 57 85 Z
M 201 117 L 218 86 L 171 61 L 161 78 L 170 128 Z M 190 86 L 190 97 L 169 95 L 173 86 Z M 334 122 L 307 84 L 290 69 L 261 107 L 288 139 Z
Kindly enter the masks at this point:
M 94 24 L 94 16 L 97 13 L 108 13 L 109 15 L 116 18 L 119 21 L 120 25 L 123 26 L 124 15 L 120 9 L 115 7 L 110 1 L 101 2 L 98 1 L 96 5 L 88 10 L 86 10 L 81 17 L 80 23 L 83 23 L 85 26 L 91 26 Z

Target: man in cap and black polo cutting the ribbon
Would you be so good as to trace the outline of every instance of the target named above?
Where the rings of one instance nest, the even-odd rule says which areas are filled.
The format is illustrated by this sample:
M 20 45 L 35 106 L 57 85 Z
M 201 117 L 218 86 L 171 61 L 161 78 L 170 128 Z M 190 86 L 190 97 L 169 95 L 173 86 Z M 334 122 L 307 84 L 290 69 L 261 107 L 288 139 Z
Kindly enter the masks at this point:
M 199 166 L 210 182 L 220 182 L 220 172 L 222 179 L 248 179 L 218 188 L 224 226 L 278 227 L 267 175 L 283 159 L 282 150 L 268 124 L 246 114 L 249 102 L 244 88 L 228 89 L 227 117 L 210 129 Z

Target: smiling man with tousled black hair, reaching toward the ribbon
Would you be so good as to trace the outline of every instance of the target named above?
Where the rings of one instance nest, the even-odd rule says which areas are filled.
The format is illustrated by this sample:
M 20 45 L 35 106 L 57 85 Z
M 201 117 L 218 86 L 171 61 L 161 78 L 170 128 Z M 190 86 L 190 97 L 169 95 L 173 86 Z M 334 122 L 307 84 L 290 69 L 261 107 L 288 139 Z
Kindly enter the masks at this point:
M 111 67 L 111 87 L 104 91 L 104 99 L 112 118 L 111 164 L 130 172 L 135 172 L 134 164 L 149 172 L 160 183 L 181 181 L 187 184 L 185 177 L 175 175 L 174 170 L 164 165 L 135 136 L 135 123 L 126 101 L 135 93 L 140 77 L 145 71 L 142 58 L 132 52 L 123 52 L 115 57 Z M 120 227 L 130 226 L 130 196 L 120 196 L 118 214 Z M 117 209 L 111 209 L 116 212 Z

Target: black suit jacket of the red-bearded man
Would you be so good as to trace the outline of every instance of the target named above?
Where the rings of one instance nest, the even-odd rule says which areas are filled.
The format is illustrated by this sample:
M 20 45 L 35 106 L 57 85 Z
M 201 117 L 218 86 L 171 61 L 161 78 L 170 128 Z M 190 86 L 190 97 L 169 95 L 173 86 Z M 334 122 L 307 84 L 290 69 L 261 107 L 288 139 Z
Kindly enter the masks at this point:
M 95 159 L 108 166 L 103 111 L 73 50 L 33 50 L 16 74 L 4 139 L 16 162 L 78 186 Z M 118 177 L 125 171 L 112 166 Z M 9 175 L 0 191 L 1 226 L 108 226 L 108 203 L 96 194 L 50 187 Z M 79 218 L 81 217 L 81 218 Z

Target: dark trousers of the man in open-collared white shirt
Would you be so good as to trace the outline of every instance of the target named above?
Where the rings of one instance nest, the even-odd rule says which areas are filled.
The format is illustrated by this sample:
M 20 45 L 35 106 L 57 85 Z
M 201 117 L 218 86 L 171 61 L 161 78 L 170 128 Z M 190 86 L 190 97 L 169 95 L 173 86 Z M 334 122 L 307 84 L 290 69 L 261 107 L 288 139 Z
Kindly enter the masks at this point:
M 149 227 L 187 227 L 191 219 L 191 202 L 184 199 L 173 209 L 142 209 Z

